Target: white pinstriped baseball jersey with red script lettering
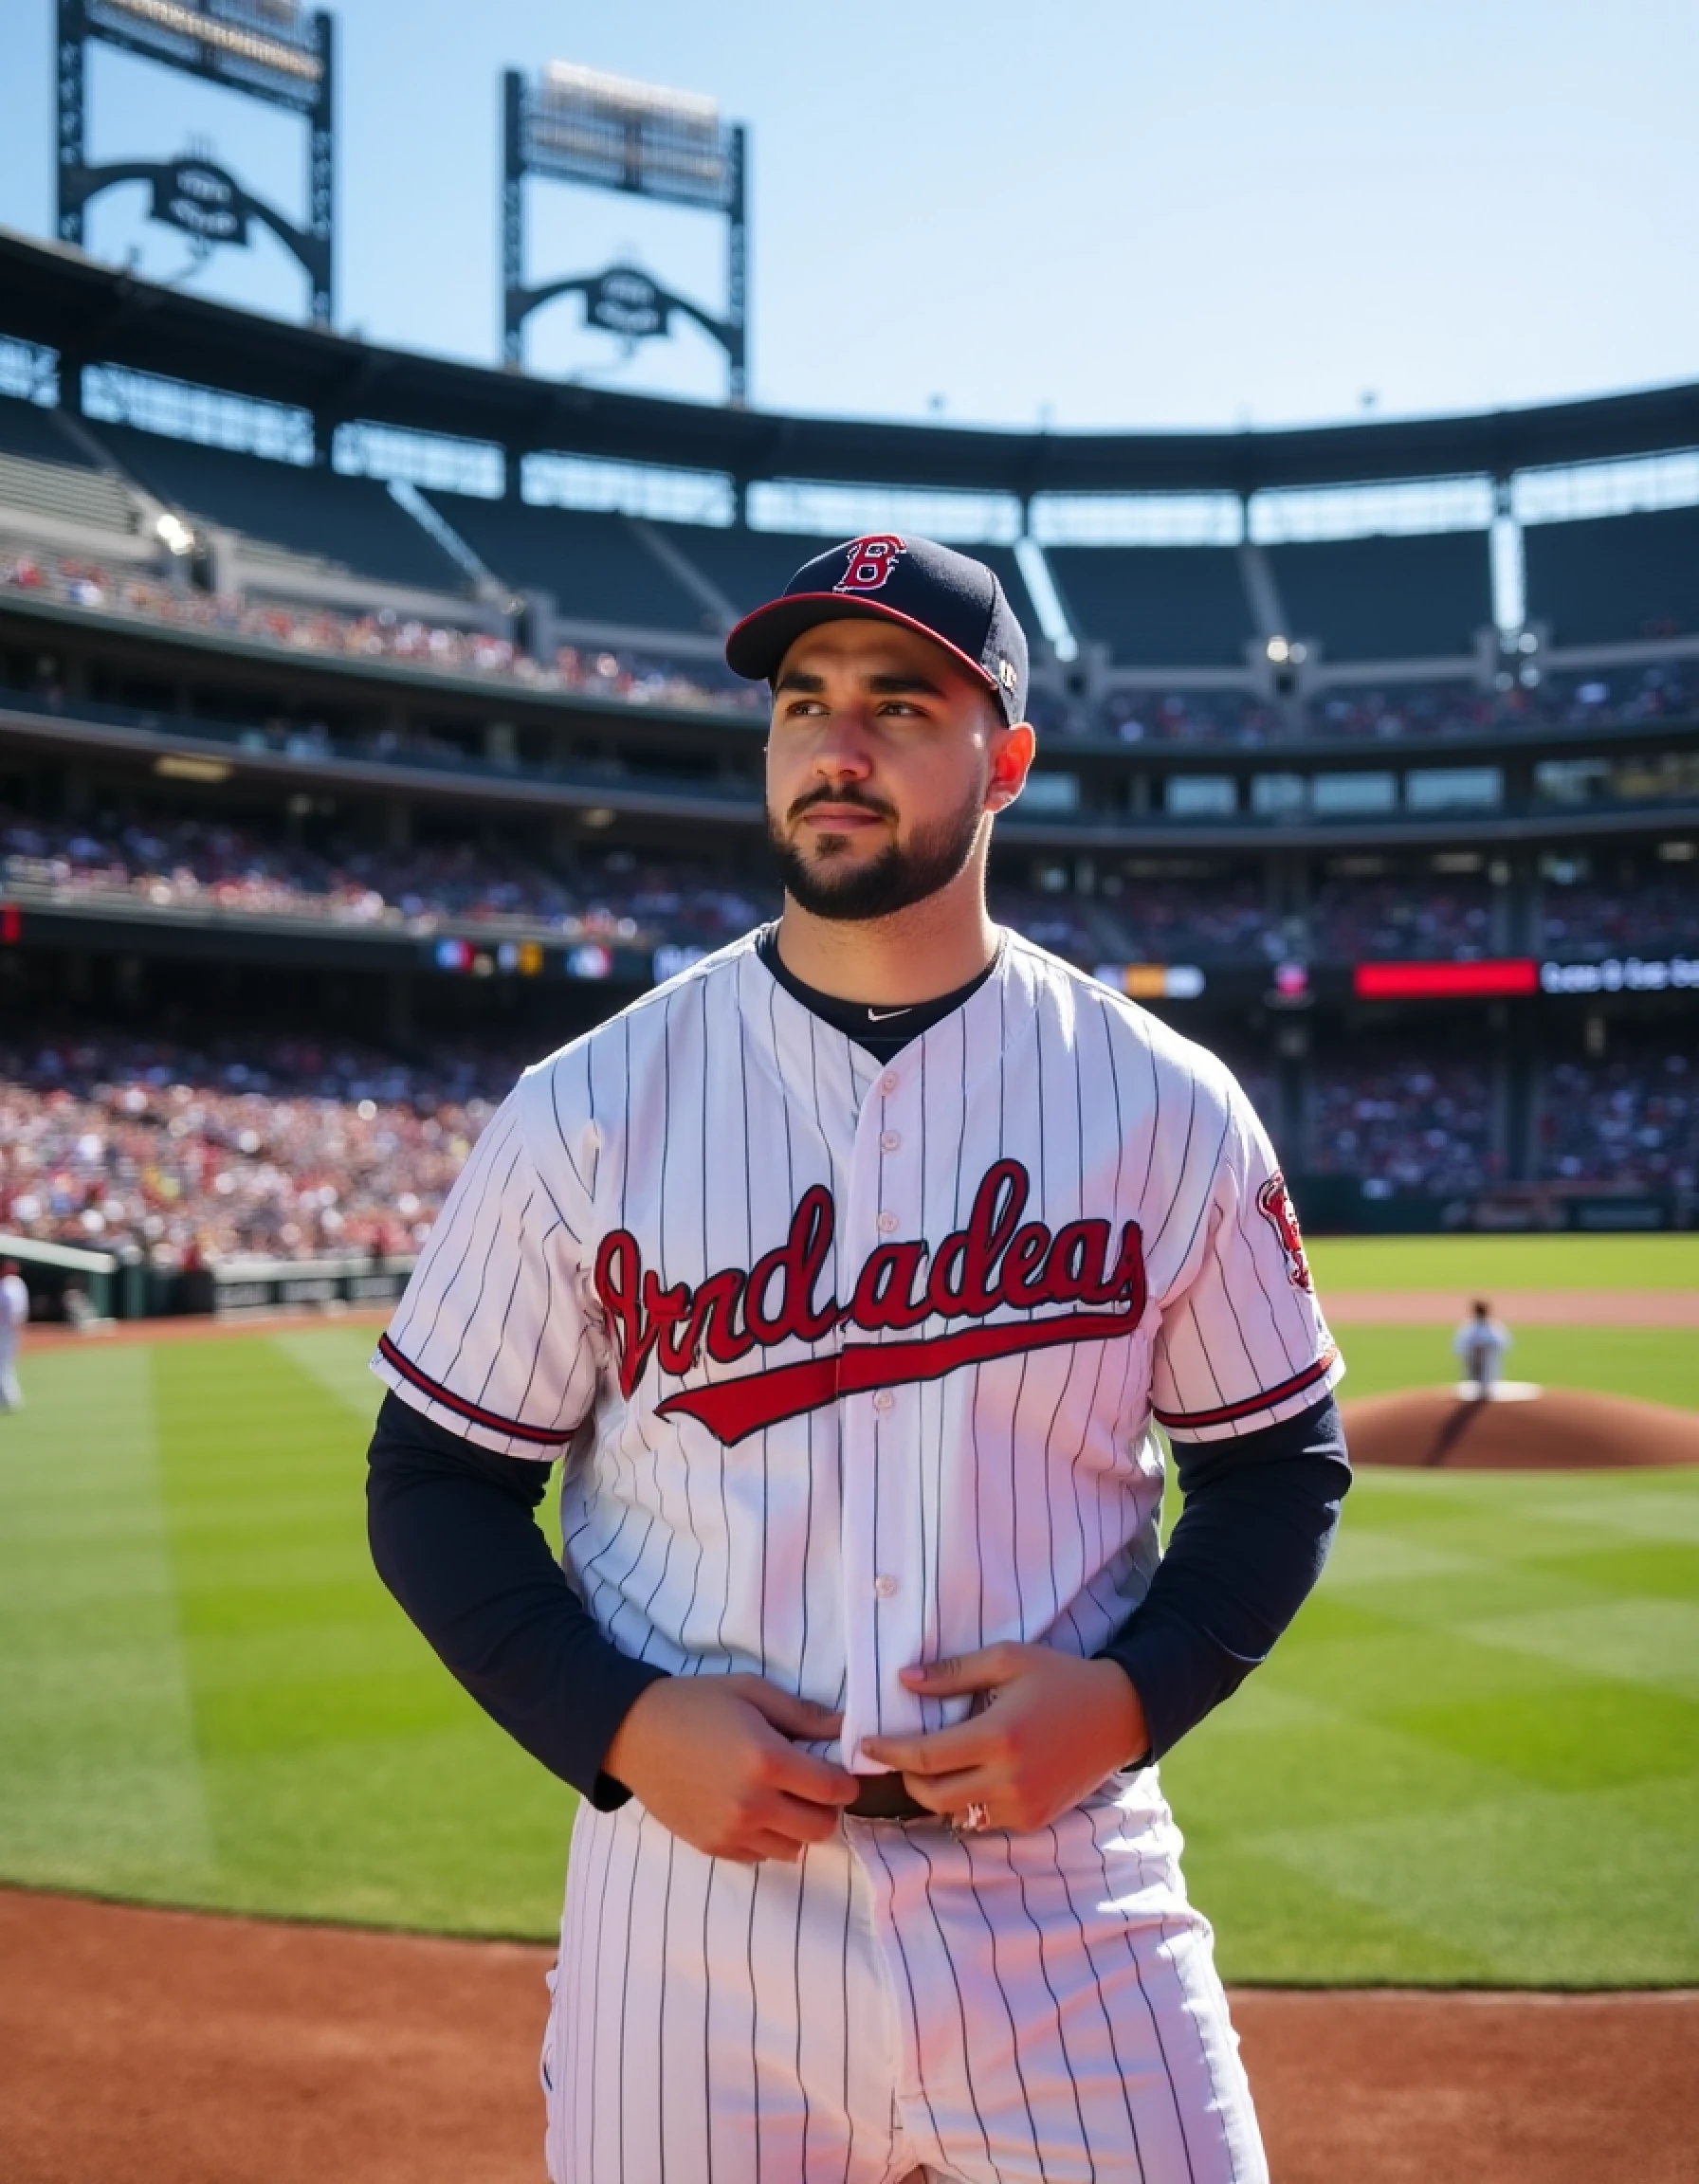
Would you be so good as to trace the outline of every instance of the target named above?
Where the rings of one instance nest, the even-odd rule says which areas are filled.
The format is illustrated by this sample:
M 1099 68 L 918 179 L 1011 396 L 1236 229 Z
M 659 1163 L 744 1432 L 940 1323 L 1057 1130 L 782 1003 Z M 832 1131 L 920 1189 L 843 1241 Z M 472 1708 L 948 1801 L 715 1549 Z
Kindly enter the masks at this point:
M 1013 935 L 887 1064 L 751 937 L 526 1072 L 373 1365 L 568 1459 L 622 1651 L 843 1708 L 852 1767 L 965 1712 L 902 1666 L 1125 1623 L 1155 1420 L 1221 1439 L 1341 1374 L 1227 1070 Z

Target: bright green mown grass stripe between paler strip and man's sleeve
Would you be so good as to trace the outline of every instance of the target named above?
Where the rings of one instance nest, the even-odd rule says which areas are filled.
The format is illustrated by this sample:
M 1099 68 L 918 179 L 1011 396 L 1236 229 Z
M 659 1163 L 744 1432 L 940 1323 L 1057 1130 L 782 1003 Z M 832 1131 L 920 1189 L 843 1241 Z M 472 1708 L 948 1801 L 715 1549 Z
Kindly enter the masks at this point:
M 570 1795 L 478 1712 L 371 1568 L 367 1348 L 369 1330 L 328 1328 L 153 1356 L 216 1848 L 207 1900 L 544 1935 Z

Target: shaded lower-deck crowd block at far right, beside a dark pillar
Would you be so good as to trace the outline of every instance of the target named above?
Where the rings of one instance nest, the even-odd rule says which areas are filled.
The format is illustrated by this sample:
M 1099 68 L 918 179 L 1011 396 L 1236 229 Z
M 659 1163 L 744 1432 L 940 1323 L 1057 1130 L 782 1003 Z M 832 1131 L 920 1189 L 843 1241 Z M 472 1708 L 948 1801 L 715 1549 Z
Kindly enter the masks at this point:
M 1699 1064 L 1647 1051 L 1546 1070 L 1537 1173 L 1640 1190 L 1699 1188 Z

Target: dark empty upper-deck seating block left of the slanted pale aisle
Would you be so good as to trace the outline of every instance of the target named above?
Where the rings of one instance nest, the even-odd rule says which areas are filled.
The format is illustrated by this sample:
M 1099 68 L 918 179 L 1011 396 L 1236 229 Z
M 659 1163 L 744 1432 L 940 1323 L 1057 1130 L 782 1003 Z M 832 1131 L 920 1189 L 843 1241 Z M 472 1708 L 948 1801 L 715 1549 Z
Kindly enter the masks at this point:
M 382 583 L 443 594 L 463 587 L 463 570 L 376 478 L 231 454 L 120 424 L 103 424 L 98 437 L 166 507 L 236 531 L 253 546 L 282 546 L 314 566 L 341 563 Z M 249 550 L 242 559 L 249 583 L 264 585 L 264 555 Z

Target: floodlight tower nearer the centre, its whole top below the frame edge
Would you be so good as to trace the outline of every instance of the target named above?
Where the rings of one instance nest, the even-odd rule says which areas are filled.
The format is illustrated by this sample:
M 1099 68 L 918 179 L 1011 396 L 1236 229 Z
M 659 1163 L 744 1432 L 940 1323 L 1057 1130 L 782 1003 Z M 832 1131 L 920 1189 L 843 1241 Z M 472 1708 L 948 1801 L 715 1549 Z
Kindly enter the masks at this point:
M 581 295 L 585 323 L 622 341 L 668 334 L 675 314 L 692 319 L 725 349 L 729 393 L 740 402 L 747 365 L 749 221 L 745 212 L 747 133 L 721 120 L 701 92 L 611 76 L 577 61 L 550 61 L 535 81 L 502 79 L 502 360 L 522 360 L 522 328 L 533 310 Z M 725 317 L 673 295 L 631 264 L 570 280 L 524 282 L 524 179 L 568 181 L 590 190 L 653 197 L 727 223 Z

